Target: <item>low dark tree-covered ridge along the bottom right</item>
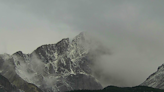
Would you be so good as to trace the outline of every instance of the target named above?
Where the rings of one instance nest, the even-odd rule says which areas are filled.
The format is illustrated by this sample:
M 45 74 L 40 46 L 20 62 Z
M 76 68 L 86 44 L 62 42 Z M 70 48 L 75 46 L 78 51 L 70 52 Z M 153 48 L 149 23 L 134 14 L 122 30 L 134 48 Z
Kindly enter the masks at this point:
M 146 86 L 136 86 L 136 87 L 108 86 L 101 90 L 74 90 L 69 92 L 164 92 L 164 90 L 155 89 Z

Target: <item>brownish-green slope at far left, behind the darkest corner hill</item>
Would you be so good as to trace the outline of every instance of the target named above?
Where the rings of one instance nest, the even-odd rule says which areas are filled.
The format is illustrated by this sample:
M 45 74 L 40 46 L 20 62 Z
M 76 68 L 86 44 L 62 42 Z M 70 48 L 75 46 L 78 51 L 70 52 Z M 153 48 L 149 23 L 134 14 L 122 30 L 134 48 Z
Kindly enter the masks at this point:
M 5 76 L 14 86 L 25 92 L 42 92 L 34 84 L 24 81 L 16 72 L 14 58 L 8 54 L 0 55 L 0 73 Z

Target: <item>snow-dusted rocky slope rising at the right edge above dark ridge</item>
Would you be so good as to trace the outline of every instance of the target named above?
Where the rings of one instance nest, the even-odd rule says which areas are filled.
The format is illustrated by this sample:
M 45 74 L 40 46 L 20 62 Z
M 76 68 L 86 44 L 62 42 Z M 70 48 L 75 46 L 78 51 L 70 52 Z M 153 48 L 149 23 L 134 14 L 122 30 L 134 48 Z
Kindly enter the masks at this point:
M 151 74 L 141 85 L 164 89 L 164 64 L 159 66 L 157 71 Z

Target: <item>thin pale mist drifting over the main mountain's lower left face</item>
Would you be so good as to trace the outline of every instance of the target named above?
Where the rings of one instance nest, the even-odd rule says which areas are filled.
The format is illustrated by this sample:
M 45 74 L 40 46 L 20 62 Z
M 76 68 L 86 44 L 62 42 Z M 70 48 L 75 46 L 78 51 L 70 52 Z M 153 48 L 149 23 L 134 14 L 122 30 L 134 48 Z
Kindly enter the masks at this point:
M 18 59 L 17 56 L 15 59 Z M 19 62 L 19 63 L 18 63 Z M 51 88 L 56 82 L 55 74 L 48 74 L 45 69 L 45 63 L 40 60 L 35 53 L 31 54 L 31 59 L 24 62 L 18 59 L 16 73 L 29 83 L 38 87 Z

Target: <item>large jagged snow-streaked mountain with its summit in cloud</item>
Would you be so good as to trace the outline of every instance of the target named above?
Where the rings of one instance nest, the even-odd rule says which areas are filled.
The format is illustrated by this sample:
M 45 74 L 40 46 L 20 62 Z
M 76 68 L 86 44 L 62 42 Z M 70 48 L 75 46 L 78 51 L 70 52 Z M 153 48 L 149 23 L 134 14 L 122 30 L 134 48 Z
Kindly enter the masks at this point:
M 64 92 L 102 89 L 94 77 L 94 59 L 110 54 L 109 49 L 86 32 L 72 41 L 64 38 L 55 44 L 38 47 L 30 54 L 18 51 L 0 55 L 0 73 L 25 92 Z M 35 86 L 36 85 L 36 86 Z M 41 89 L 41 90 L 40 90 Z

